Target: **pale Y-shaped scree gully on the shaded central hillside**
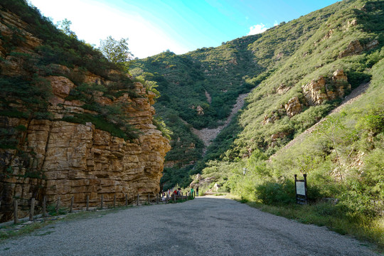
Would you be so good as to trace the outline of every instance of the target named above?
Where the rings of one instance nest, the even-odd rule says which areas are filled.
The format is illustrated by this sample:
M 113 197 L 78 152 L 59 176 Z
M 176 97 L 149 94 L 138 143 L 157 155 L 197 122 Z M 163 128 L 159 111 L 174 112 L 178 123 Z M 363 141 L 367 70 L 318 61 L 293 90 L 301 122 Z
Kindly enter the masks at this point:
M 218 134 L 221 132 L 221 130 L 226 127 L 230 121 L 233 119 L 235 114 L 241 110 L 242 106 L 244 105 L 245 97 L 247 97 L 247 93 L 239 95 L 238 99 L 236 100 L 235 105 L 233 105 L 232 112 L 230 112 L 229 117 L 225 120 L 224 124 L 220 127 L 209 129 L 209 128 L 203 128 L 203 129 L 195 129 L 192 128 L 191 131 L 196 134 L 199 139 L 201 139 L 204 142 L 204 145 L 206 148 L 210 145 L 213 139 L 218 136 Z

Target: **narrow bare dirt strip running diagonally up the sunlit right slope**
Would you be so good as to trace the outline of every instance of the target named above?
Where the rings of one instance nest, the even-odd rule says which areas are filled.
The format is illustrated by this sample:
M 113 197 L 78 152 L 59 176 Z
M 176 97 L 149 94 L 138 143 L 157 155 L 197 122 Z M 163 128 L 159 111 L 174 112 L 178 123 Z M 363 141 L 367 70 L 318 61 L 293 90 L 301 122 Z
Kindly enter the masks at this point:
M 330 114 L 334 114 L 334 113 L 338 113 L 340 112 L 343 107 L 345 105 L 348 105 L 348 104 L 351 104 L 352 102 L 355 102 L 356 100 L 358 100 L 361 96 L 363 96 L 363 93 L 366 92 L 366 90 L 368 89 L 369 87 L 369 82 L 367 83 L 363 83 L 361 85 L 359 85 L 358 87 L 356 87 L 349 95 L 347 95 L 345 97 L 345 99 L 343 100 L 343 102 L 341 102 L 341 105 L 336 107 L 334 110 L 332 110 L 331 112 L 329 112 L 328 116 Z M 312 127 L 309 127 L 308 129 L 306 129 L 302 134 L 300 134 L 298 137 L 292 139 L 292 141 L 290 141 L 287 145 L 285 145 L 282 149 L 280 149 L 279 151 L 277 151 L 276 154 L 272 155 L 272 157 L 276 156 L 277 154 L 280 154 L 282 151 L 285 151 L 286 149 L 289 149 L 291 146 L 293 146 L 294 144 L 296 143 L 301 143 L 304 141 L 304 139 L 306 138 L 306 135 L 307 134 L 310 134 L 312 132 L 314 132 L 314 130 L 316 129 L 316 127 L 318 127 L 322 122 L 326 121 L 327 117 L 324 117 L 323 119 L 321 119 L 319 122 L 317 122 L 316 124 L 314 124 Z

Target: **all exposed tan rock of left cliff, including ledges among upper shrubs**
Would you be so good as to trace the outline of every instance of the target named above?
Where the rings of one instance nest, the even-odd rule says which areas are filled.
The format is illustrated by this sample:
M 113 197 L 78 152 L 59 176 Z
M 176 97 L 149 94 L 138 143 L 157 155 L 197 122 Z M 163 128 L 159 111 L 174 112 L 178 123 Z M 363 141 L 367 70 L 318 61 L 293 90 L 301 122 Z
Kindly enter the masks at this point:
M 102 91 L 89 92 L 97 106 L 105 109 L 119 106 L 127 117 L 127 124 L 137 130 L 136 139 L 112 136 L 110 132 L 97 129 L 92 122 L 65 122 L 76 114 L 105 114 L 104 108 L 90 110 L 82 100 L 68 98 L 71 90 L 78 88 L 70 78 L 78 78 L 76 74 L 80 74 L 82 84 L 99 86 L 116 81 L 79 67 L 68 68 L 52 63 L 47 68 L 54 70 L 50 73 L 55 75 L 38 71 L 31 73 L 31 68 L 26 69 L 25 55 L 21 53 L 38 58 L 35 48 L 43 42 L 28 33 L 27 24 L 14 14 L 0 11 L 0 16 L 1 78 L 36 76 L 38 73 L 38 78 L 52 91 L 46 102 L 49 118 L 37 118 L 33 114 L 26 117 L 0 116 L 1 142 L 4 142 L 0 146 L 1 221 L 11 218 L 14 198 L 19 199 L 22 216 L 30 198 L 41 201 L 43 196 L 47 196 L 48 203 L 60 196 L 64 206 L 68 206 L 74 196 L 75 208 L 84 207 L 87 196 L 90 197 L 90 206 L 100 205 L 101 196 L 107 205 L 114 200 L 114 195 L 120 204 L 125 203 L 126 195 L 129 201 L 133 201 L 137 193 L 142 196 L 149 194 L 152 198 L 156 196 L 164 156 L 170 146 L 168 139 L 152 124 L 154 93 L 147 91 L 140 82 L 132 85 L 134 97 L 132 92 L 124 90 L 114 90 L 114 97 Z M 2 47 L 7 43 L 4 38 L 14 36 L 15 31 L 23 38 L 23 43 L 7 50 Z M 110 73 L 118 72 L 111 70 Z M 7 102 L 0 105 L 2 113 L 6 113 L 9 107 L 20 113 L 28 112 L 28 105 L 23 104 L 25 100 L 6 93 L 1 97 L 2 102 Z M 6 146 L 6 140 L 16 142 L 17 146 Z

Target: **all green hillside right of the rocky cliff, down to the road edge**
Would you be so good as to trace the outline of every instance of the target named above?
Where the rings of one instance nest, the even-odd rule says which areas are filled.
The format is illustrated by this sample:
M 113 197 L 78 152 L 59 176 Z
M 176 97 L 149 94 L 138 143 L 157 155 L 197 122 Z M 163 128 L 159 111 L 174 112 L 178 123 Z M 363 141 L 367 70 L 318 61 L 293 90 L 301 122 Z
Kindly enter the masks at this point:
M 383 245 L 383 11 L 384 1 L 341 1 L 217 48 L 135 60 L 132 72 L 158 83 L 156 108 L 175 131 L 166 160 L 178 163 L 164 170 L 164 185 L 188 186 L 201 173 L 211 178 L 201 191 L 217 183 L 243 202 Z M 328 116 L 366 82 L 358 100 Z M 245 92 L 245 107 L 199 157 L 203 144 L 188 125 L 217 127 Z M 308 174 L 313 204 L 304 210 L 294 206 L 294 174 Z

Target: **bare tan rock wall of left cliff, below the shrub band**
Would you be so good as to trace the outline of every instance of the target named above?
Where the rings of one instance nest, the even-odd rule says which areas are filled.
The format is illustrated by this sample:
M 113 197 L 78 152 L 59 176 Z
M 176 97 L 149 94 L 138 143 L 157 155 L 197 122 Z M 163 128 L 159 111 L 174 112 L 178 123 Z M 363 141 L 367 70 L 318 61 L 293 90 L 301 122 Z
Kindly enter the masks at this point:
M 137 83 L 139 90 L 145 92 Z M 63 91 L 58 90 L 58 94 L 62 95 Z M 70 106 L 69 102 L 66 104 Z M 130 122 L 140 132 L 139 138 L 132 142 L 96 129 L 91 122 L 75 124 L 33 119 L 28 124 L 26 119 L 1 117 L 3 129 L 28 127 L 22 150 L 33 153 L 33 157 L 22 159 L 15 155 L 14 149 L 0 149 L 3 173 L 5 168 L 11 170 L 8 177 L 1 180 L 1 207 L 8 207 L 15 197 L 41 200 L 43 195 L 47 196 L 48 203 L 60 196 L 63 206 L 69 205 L 74 196 L 75 208 L 84 207 L 87 196 L 90 206 L 97 206 L 101 195 L 107 205 L 114 195 L 120 203 L 124 203 L 125 195 L 129 201 L 134 201 L 138 193 L 154 197 L 159 192 L 169 141 L 151 124 L 154 109 L 149 100 L 131 99 L 131 105 Z M 84 110 L 75 107 L 73 111 Z M 56 112 L 55 116 L 60 114 Z M 11 213 L 4 208 L 0 217 L 7 220 Z

